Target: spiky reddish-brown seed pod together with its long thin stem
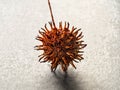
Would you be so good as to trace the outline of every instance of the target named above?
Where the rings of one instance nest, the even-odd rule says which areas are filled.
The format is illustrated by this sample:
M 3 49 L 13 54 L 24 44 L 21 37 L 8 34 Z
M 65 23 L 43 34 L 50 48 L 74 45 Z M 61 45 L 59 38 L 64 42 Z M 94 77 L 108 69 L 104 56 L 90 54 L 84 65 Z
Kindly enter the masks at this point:
M 77 29 L 74 26 L 69 29 L 69 23 L 59 23 L 57 28 L 54 22 L 50 1 L 48 0 L 50 8 L 50 14 L 52 22 L 49 22 L 50 29 L 47 28 L 46 24 L 43 31 L 39 31 L 39 35 L 36 37 L 37 40 L 42 42 L 42 45 L 35 46 L 36 50 L 43 50 L 43 54 L 39 55 L 40 62 L 51 62 L 51 71 L 55 71 L 57 66 L 60 64 L 64 72 L 67 71 L 68 66 L 71 64 L 74 68 L 73 62 L 81 61 L 83 58 L 82 49 L 87 44 L 83 44 L 81 29 Z M 43 61 L 41 61 L 43 59 Z

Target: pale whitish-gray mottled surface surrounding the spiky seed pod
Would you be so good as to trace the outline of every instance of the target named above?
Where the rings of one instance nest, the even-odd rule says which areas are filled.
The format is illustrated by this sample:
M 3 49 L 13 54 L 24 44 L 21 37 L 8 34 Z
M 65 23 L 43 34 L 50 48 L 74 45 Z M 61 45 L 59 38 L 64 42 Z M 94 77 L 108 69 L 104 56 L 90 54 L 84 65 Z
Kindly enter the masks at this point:
M 0 90 L 120 90 L 120 0 L 51 0 L 55 21 L 82 28 L 85 59 L 50 72 L 34 50 L 47 0 L 0 0 Z

